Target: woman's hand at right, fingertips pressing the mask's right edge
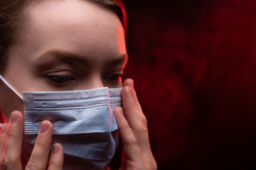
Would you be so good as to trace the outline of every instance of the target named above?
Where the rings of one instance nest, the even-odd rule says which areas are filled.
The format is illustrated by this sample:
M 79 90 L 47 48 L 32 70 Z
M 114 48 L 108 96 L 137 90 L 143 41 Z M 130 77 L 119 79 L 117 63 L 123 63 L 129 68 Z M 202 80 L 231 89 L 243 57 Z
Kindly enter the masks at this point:
M 133 80 L 125 80 L 123 86 L 123 109 L 114 110 L 125 152 L 120 169 L 157 169 L 149 145 L 146 117 L 137 100 Z

